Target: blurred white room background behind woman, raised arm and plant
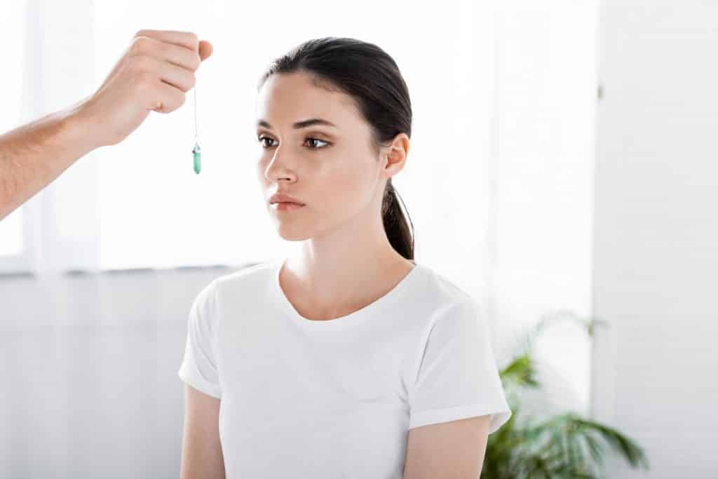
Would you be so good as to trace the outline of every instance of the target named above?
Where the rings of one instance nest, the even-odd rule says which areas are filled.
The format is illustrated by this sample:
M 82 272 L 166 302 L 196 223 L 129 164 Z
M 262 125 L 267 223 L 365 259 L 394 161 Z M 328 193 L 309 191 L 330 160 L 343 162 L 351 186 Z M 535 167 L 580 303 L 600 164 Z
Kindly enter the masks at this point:
M 696 0 L 0 3 L 0 133 L 91 95 L 139 29 L 214 46 L 185 106 L 0 222 L 0 477 L 179 477 L 192 300 L 299 247 L 256 180 L 256 82 L 325 36 L 398 63 L 416 261 L 480 299 L 498 365 L 551 312 L 608 325 L 541 336 L 524 408 L 606 424 L 651 460 L 607 455 L 607 477 L 716 477 L 716 25 Z

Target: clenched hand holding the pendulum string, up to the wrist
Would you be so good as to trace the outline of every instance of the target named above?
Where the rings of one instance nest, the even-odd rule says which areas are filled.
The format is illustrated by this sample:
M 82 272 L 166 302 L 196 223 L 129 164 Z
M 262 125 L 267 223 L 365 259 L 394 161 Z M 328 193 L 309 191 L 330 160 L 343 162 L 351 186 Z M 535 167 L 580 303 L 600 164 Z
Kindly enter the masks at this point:
M 78 108 L 93 147 L 119 143 L 150 111 L 180 108 L 195 85 L 195 71 L 212 50 L 210 42 L 191 32 L 137 32 L 100 88 Z

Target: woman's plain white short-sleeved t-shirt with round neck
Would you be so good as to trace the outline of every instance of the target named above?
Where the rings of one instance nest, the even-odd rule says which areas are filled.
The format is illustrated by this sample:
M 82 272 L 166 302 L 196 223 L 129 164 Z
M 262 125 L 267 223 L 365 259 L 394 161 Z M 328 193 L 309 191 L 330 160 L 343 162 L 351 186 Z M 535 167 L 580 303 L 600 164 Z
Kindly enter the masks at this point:
M 511 415 L 479 304 L 415 264 L 375 302 L 299 315 L 284 259 L 215 279 L 189 315 L 185 383 L 221 399 L 228 478 L 401 479 L 408 430 Z

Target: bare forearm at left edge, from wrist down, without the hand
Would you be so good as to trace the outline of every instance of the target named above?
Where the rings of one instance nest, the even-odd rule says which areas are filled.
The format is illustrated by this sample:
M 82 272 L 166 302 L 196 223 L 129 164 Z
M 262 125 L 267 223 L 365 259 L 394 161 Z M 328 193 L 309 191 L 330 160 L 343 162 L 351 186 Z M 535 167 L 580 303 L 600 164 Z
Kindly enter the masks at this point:
M 81 103 L 0 136 L 0 220 L 95 149 Z

